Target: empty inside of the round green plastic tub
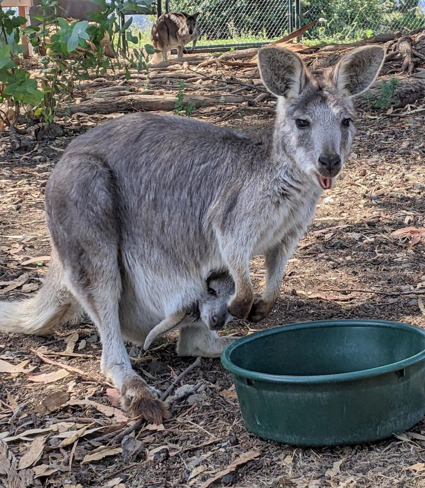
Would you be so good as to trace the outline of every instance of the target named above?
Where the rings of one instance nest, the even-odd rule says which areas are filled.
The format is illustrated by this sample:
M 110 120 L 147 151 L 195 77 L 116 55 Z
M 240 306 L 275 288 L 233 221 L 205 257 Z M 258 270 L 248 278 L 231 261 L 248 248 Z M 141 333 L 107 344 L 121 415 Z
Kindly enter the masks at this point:
M 240 368 L 284 376 L 334 375 L 377 368 L 418 354 L 425 337 L 388 326 L 319 326 L 285 330 L 240 343 Z

